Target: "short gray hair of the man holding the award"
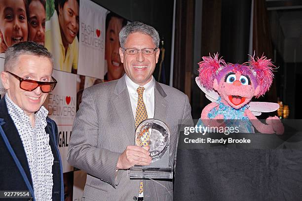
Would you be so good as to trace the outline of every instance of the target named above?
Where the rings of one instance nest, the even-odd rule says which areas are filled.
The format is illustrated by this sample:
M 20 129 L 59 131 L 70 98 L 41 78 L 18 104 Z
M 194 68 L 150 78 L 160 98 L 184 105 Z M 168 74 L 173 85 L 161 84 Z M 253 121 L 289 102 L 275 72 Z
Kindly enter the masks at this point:
M 128 35 L 130 35 L 130 33 L 135 33 L 135 32 L 150 35 L 151 38 L 153 39 L 153 42 L 154 42 L 155 46 L 159 47 L 159 34 L 158 34 L 158 32 L 153 27 L 151 27 L 149 25 L 146 25 L 142 22 L 132 22 L 131 24 L 124 26 L 120 30 L 120 32 L 118 34 L 120 46 L 124 47 Z

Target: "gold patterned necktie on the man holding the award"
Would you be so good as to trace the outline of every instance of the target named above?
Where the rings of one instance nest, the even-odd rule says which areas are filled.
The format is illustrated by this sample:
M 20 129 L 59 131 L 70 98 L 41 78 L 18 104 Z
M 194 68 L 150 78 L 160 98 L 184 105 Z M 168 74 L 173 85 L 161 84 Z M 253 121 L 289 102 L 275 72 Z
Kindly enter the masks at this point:
M 135 128 L 137 128 L 137 126 L 142 121 L 148 119 L 148 113 L 147 113 L 146 105 L 145 105 L 144 99 L 143 99 L 144 90 L 145 90 L 144 87 L 138 87 L 136 90 L 138 93 L 138 99 L 137 99 L 137 107 L 136 107 L 136 113 L 135 113 Z M 149 145 L 149 136 L 144 137 L 144 140 L 142 143 L 143 143 L 143 146 L 148 146 Z M 142 194 L 143 191 L 144 191 L 143 181 L 141 181 L 139 193 Z

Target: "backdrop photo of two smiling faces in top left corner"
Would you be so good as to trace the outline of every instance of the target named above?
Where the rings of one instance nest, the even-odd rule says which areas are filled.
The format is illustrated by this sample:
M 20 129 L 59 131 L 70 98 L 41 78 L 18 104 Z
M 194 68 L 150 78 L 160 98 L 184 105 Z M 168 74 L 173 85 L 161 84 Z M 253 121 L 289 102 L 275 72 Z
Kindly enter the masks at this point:
M 0 17 L 0 53 L 27 40 L 44 45 L 45 0 L 0 0 Z

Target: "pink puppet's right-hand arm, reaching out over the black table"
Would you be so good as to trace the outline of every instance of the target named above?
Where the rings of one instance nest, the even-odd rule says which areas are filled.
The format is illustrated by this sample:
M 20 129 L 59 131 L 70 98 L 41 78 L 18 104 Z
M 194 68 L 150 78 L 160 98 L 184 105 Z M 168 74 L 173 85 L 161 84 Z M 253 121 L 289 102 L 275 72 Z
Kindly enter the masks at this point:
M 253 126 L 260 132 L 265 134 L 283 134 L 284 133 L 284 127 L 281 123 L 280 119 L 277 116 L 274 117 L 268 117 L 266 119 L 266 124 L 261 123 L 257 117 L 254 116 L 254 114 L 251 112 L 251 110 L 246 109 L 244 111 L 245 116 L 247 116 Z

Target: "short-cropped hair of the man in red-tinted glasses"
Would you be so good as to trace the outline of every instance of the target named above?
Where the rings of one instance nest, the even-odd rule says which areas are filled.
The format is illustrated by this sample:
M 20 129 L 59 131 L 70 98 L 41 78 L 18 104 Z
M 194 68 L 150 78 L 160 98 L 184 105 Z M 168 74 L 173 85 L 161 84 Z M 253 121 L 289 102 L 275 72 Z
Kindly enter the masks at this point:
M 38 57 L 46 57 L 53 66 L 53 57 L 48 50 L 32 41 L 24 41 L 16 43 L 5 51 L 4 71 L 12 70 L 21 55 L 35 55 Z M 42 65 L 42 64 L 41 64 Z

